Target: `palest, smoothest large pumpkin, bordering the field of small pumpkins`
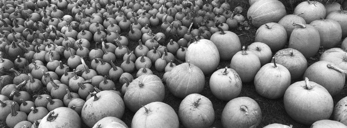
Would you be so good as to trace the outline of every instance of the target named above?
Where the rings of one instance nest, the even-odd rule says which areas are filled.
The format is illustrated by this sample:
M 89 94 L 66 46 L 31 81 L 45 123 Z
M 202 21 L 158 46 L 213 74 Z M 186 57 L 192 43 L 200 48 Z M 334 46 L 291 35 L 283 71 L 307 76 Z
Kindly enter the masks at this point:
M 186 61 L 199 67 L 205 75 L 210 74 L 219 65 L 219 52 L 212 41 L 201 39 L 188 46 Z

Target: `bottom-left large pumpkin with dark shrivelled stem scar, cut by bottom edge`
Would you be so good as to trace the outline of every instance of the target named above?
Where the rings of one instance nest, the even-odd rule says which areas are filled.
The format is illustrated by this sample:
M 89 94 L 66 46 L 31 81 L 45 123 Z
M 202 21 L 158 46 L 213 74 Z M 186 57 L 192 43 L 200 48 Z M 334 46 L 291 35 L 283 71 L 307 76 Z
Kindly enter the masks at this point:
M 81 118 L 70 108 L 59 107 L 42 118 L 39 128 L 82 128 Z

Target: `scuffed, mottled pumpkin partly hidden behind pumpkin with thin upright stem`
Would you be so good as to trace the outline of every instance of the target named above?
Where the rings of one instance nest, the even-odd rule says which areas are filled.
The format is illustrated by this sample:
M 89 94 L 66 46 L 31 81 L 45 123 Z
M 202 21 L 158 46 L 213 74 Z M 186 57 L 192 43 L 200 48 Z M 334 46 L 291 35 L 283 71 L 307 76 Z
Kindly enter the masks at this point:
M 293 56 L 291 56 L 290 51 L 293 51 Z M 283 65 L 289 70 L 291 80 L 301 78 L 307 69 L 307 60 L 298 50 L 291 48 L 282 49 L 276 52 L 273 57 L 276 63 Z

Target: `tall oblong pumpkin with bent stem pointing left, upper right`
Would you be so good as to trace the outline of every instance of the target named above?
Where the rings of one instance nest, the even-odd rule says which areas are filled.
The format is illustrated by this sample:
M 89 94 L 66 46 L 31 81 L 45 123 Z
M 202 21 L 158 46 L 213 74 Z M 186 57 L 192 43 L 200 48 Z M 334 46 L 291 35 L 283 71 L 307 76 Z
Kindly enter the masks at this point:
M 312 25 L 305 24 L 306 28 L 296 26 L 290 35 L 288 48 L 301 52 L 305 58 L 316 55 L 321 43 L 318 30 Z

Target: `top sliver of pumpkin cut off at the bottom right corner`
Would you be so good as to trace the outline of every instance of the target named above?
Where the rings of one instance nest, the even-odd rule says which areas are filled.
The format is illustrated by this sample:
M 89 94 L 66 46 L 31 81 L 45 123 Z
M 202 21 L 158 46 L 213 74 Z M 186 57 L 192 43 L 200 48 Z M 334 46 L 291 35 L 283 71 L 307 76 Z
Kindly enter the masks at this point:
M 347 128 L 347 126 L 335 120 L 319 120 L 314 122 L 310 128 Z

